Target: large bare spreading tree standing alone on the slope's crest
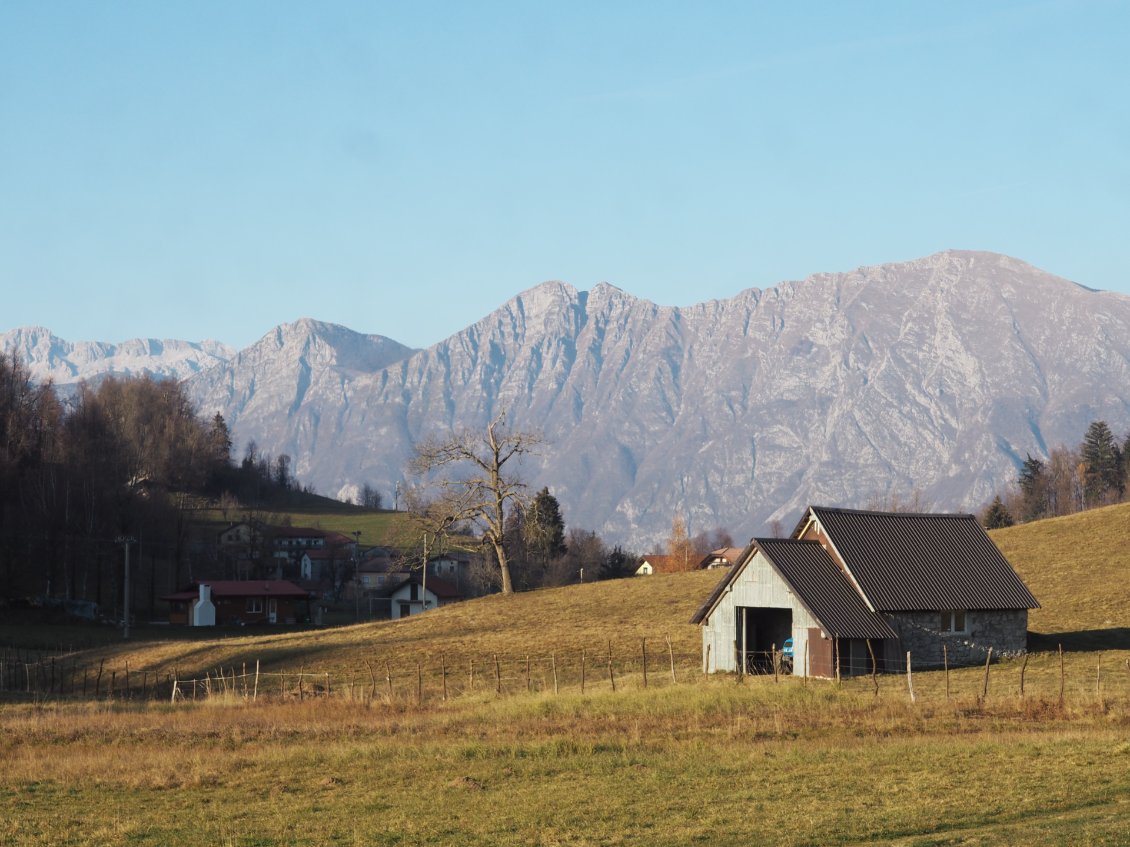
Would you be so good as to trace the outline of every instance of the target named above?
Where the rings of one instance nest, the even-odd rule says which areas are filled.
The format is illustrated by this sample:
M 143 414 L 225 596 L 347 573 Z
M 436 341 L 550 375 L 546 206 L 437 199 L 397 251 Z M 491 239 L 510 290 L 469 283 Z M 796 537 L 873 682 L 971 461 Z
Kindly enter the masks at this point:
M 502 412 L 484 430 L 462 428 L 421 442 L 408 465 L 423 486 L 412 498 L 414 510 L 438 530 L 475 526 L 498 562 L 503 594 L 514 591 L 504 543 L 506 516 L 529 503 L 518 465 L 544 443 L 540 433 L 510 429 Z

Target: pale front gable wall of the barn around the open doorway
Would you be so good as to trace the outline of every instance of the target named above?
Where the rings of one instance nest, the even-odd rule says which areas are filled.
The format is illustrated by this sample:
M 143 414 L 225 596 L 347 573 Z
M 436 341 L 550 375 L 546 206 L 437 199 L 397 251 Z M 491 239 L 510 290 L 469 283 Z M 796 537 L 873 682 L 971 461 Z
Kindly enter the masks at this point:
M 738 670 L 738 609 L 741 606 L 792 610 L 793 673 L 805 673 L 805 649 L 809 628 L 819 628 L 781 576 L 758 551 L 703 621 L 703 670 Z M 780 645 L 779 645 L 780 647 Z

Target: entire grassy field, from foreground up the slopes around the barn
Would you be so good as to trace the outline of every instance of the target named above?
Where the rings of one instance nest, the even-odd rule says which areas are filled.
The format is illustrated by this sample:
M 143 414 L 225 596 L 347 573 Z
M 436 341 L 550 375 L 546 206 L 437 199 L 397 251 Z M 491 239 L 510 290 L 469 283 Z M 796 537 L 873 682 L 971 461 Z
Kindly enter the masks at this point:
M 0 844 L 1130 844 L 1128 518 L 994 533 L 1052 649 L 993 664 L 984 697 L 983 669 L 916 673 L 914 702 L 895 674 L 878 690 L 706 679 L 687 620 L 716 573 L 333 630 L 99 644 L 72 658 L 208 674 L 212 697 L 8 695 Z M 218 681 L 255 662 L 264 696 Z

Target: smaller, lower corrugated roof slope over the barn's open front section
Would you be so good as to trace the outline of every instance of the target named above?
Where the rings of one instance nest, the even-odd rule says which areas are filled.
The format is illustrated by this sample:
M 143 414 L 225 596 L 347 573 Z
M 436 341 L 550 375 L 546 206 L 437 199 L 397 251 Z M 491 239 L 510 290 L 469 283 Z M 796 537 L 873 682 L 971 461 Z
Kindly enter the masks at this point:
M 755 543 L 827 635 L 897 638 L 890 626 L 867 608 L 819 542 L 755 539 Z

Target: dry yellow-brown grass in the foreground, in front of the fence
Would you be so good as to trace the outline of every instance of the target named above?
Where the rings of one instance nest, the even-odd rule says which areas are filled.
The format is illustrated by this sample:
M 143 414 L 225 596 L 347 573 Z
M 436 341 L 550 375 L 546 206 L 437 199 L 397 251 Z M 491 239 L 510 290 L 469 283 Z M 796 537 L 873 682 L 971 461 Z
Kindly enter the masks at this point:
M 0 842 L 1120 844 L 1125 702 L 864 686 L 0 711 Z

